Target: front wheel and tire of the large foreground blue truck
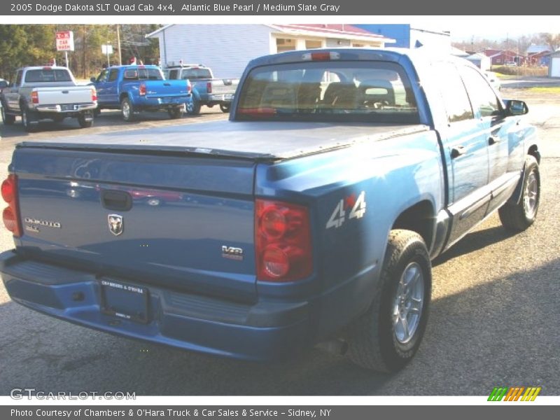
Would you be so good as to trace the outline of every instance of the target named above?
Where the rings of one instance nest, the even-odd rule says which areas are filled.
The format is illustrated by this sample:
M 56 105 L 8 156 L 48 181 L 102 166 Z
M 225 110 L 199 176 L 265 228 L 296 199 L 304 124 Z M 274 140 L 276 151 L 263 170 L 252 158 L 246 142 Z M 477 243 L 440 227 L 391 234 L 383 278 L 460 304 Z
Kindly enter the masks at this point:
M 506 202 L 498 210 L 500 221 L 505 230 L 521 232 L 535 223 L 540 203 L 540 172 L 538 162 L 533 156 L 525 159 L 524 177 L 521 181 L 519 202 Z

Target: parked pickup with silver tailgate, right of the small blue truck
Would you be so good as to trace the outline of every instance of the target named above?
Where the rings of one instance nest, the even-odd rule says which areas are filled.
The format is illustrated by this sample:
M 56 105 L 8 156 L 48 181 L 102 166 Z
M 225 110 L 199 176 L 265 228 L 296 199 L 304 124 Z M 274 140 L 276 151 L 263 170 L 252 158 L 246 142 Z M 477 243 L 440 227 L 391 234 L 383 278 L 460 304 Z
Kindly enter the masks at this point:
M 172 63 L 165 69 L 169 80 L 190 80 L 193 84 L 193 113 L 200 113 L 202 105 L 219 105 L 222 112 L 230 112 L 230 106 L 239 85 L 236 78 L 215 78 L 212 70 L 202 64 Z

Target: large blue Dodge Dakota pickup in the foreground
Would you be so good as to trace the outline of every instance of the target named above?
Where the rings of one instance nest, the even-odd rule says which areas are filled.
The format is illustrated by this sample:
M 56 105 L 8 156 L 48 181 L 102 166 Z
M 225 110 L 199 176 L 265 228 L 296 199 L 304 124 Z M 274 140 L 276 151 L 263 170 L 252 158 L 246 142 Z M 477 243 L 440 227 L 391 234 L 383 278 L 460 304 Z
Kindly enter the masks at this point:
M 513 232 L 535 221 L 527 105 L 466 60 L 285 52 L 238 92 L 229 121 L 19 144 L 1 188 L 10 297 L 192 351 L 320 344 L 391 372 L 426 328 L 430 260 L 496 210 Z

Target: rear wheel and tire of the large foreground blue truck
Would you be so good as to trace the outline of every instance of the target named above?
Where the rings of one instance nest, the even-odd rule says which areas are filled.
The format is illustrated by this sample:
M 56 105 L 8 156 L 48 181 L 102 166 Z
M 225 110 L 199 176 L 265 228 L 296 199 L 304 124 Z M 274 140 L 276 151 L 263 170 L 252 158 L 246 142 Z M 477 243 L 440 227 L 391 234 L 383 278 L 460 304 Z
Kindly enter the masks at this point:
M 421 236 L 392 230 L 379 292 L 349 329 L 350 360 L 378 372 L 395 372 L 412 360 L 426 330 L 431 285 L 430 257 Z

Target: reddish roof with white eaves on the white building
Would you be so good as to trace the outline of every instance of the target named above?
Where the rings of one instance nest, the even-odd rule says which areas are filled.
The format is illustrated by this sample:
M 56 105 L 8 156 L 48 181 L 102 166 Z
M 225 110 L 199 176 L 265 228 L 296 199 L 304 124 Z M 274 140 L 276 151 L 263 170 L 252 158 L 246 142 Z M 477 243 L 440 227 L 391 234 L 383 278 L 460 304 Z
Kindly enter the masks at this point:
M 166 25 L 146 35 L 146 38 L 151 38 L 158 34 L 160 31 L 173 26 Z M 354 41 L 382 41 L 383 43 L 394 43 L 392 38 L 386 38 L 383 35 L 372 34 L 370 31 L 355 27 L 353 25 L 332 25 L 332 24 L 278 24 L 278 25 L 265 25 L 280 31 L 283 34 L 292 35 L 307 35 L 307 36 L 323 36 L 327 38 L 351 39 Z

